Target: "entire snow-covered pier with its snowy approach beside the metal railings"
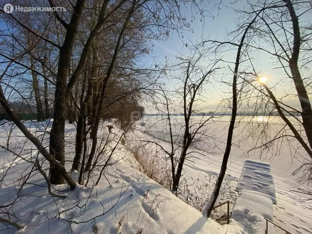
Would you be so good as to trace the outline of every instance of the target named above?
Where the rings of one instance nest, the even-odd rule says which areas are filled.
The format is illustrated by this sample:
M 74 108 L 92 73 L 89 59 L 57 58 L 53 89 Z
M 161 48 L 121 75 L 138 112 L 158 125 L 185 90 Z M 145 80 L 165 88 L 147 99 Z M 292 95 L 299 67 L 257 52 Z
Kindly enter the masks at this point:
M 266 229 L 264 218 L 273 221 L 273 203 L 276 204 L 270 164 L 246 160 L 235 191 L 238 196 L 231 221 L 240 223 L 243 233 L 263 233 Z M 275 233 L 271 223 L 268 225 L 268 233 Z

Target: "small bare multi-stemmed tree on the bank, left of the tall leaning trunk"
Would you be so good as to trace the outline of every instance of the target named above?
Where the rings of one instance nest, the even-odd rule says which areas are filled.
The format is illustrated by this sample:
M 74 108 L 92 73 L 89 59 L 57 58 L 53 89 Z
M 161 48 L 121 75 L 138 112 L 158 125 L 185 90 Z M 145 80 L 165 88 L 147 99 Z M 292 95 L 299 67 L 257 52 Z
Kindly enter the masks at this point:
M 199 149 L 201 144 L 206 144 L 208 151 L 218 142 L 213 134 L 213 119 L 217 117 L 214 113 L 205 113 L 208 103 L 204 90 L 211 80 L 218 76 L 219 60 L 205 61 L 199 48 L 191 51 L 191 54 L 189 57 L 178 58 L 180 62 L 178 65 L 167 68 L 166 75 L 175 80 L 176 88 L 166 90 L 160 87 L 159 100 L 155 100 L 161 114 L 158 122 L 165 124 L 163 134 L 170 143 L 170 149 L 156 140 L 139 140 L 144 145 L 155 144 L 165 153 L 171 172 L 168 176 L 168 187 L 176 196 L 181 186 L 184 162 L 186 160 L 192 162 L 195 159 L 192 153 Z M 208 65 L 202 66 L 203 61 Z M 174 114 L 177 113 L 181 113 L 183 118 L 176 119 L 177 116 Z M 201 117 L 198 121 L 195 120 L 197 116 Z

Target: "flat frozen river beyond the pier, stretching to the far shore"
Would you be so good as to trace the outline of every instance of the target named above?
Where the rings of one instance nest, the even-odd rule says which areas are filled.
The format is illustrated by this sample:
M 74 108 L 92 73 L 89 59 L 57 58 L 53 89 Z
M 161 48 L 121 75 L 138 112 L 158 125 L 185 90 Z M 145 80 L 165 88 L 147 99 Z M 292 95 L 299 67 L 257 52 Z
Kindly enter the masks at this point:
M 198 127 L 200 122 L 205 121 L 210 116 L 193 116 L 193 129 Z M 230 116 L 217 116 L 213 120 L 209 120 L 200 134 L 200 141 L 196 146 L 207 153 L 220 158 L 223 157 L 223 150 L 225 149 L 225 142 L 227 139 L 227 130 L 230 123 Z M 168 130 L 168 120 L 165 116 L 147 115 L 144 117 L 144 124 L 147 133 L 155 138 L 170 142 L 170 135 Z M 181 139 L 183 134 L 183 116 L 172 116 L 172 129 L 174 140 L 176 142 Z M 272 139 L 277 132 L 284 127 L 283 122 L 279 117 L 267 118 L 265 116 L 258 117 L 241 117 L 238 116 L 239 124 L 234 130 L 233 145 L 231 149 L 231 160 L 228 167 L 235 162 L 240 164 L 248 159 L 255 159 L 271 163 L 272 172 L 275 175 L 282 177 L 290 177 L 291 173 L 298 168 L 302 163 L 300 159 L 292 157 L 294 152 L 290 149 L 290 144 L 284 140 L 283 142 L 276 142 L 271 148 L 255 149 L 247 153 L 248 150 L 262 145 L 269 138 Z M 262 139 L 261 130 L 266 129 L 267 139 Z M 284 132 L 283 134 L 285 134 Z M 287 132 L 289 134 L 289 132 Z M 297 145 L 295 142 L 292 146 Z M 266 150 L 268 149 L 268 150 Z M 294 149 L 292 149 L 294 150 Z M 301 152 L 304 154 L 304 152 Z M 213 157 L 216 158 L 216 157 Z M 219 161 L 219 160 L 218 160 Z

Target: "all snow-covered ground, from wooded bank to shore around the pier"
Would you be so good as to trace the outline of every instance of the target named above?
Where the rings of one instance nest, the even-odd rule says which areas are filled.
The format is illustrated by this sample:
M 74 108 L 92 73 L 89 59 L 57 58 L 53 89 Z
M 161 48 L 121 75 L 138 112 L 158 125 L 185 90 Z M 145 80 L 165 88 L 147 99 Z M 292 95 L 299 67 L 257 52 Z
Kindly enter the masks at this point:
M 16 219 L 25 225 L 26 228 L 22 232 L 26 233 L 92 233 L 92 225 L 99 230 L 99 233 L 212 233 L 212 234 L 234 234 L 234 233 L 253 233 L 251 230 L 254 227 L 247 226 L 241 222 L 241 219 L 233 217 L 230 225 L 220 226 L 218 223 L 207 220 L 202 217 L 202 213 L 195 208 L 200 208 L 208 199 L 208 194 L 211 193 L 217 175 L 220 170 L 222 161 L 222 152 L 220 149 L 205 150 L 205 143 L 202 145 L 202 150 L 196 149 L 192 153 L 195 157 L 194 162 L 185 162 L 184 166 L 184 186 L 181 188 L 180 199 L 176 198 L 169 190 L 163 188 L 158 183 L 149 179 L 142 171 L 141 166 L 134 158 L 134 155 L 129 151 L 133 144 L 138 145 L 140 140 L 154 139 L 152 135 L 163 138 L 159 135 L 163 129 L 161 123 L 154 125 L 154 128 L 149 129 L 149 126 L 156 122 L 155 117 L 148 116 L 142 122 L 138 123 L 139 129 L 126 136 L 126 145 L 120 144 L 118 150 L 114 153 L 114 160 L 118 164 L 112 165 L 105 173 L 108 180 L 101 178 L 99 186 L 92 189 L 92 186 L 87 188 L 77 187 L 74 191 L 66 191 L 66 186 L 56 186 L 56 193 L 67 194 L 66 199 L 52 198 L 46 196 L 47 188 L 45 187 L 45 180 L 41 175 L 35 174 L 30 179 L 30 183 L 23 188 L 23 194 L 35 194 L 35 196 L 23 196 L 18 200 L 17 204 L 12 207 L 11 212 L 16 214 Z M 27 121 L 27 127 L 37 136 L 42 138 L 43 144 L 48 145 L 48 134 L 44 134 L 45 130 L 50 130 L 51 122 L 32 123 Z M 226 131 L 227 121 L 220 121 L 214 124 L 215 131 L 220 136 L 224 135 Z M 6 123 L 0 126 L 0 144 L 7 144 L 7 132 L 12 127 L 12 124 Z M 13 126 L 14 127 L 14 126 Z M 145 132 L 149 129 L 149 132 Z M 153 132 L 154 131 L 154 132 Z M 66 158 L 71 160 L 74 155 L 76 128 L 72 124 L 66 124 Z M 107 134 L 105 124 L 99 134 Z M 120 131 L 116 128 L 112 131 L 113 137 L 108 148 L 112 149 L 116 144 L 116 139 L 120 135 Z M 178 135 L 178 134 L 177 134 Z M 25 137 L 16 127 L 12 131 L 10 137 L 10 149 L 18 150 L 23 148 L 20 152 L 26 159 L 33 159 L 37 156 L 38 151 L 30 142 L 25 143 Z M 164 141 L 159 142 L 163 147 L 170 145 Z M 207 146 L 207 145 L 206 145 Z M 148 148 L 149 154 L 146 156 L 146 161 L 153 158 L 154 153 L 161 151 L 156 147 L 144 145 Z M 219 194 L 218 202 L 230 200 L 232 203 L 236 201 L 237 192 L 235 187 L 238 178 L 241 174 L 243 162 L 246 158 L 240 158 L 241 152 L 244 149 L 234 147 L 231 154 L 231 162 L 228 165 L 227 173 L 222 184 L 221 192 Z M 264 161 L 271 163 L 271 171 L 273 173 L 277 205 L 274 205 L 273 215 L 274 222 L 285 227 L 293 233 L 312 233 L 312 224 L 310 218 L 312 217 L 312 210 L 309 209 L 311 205 L 305 201 L 306 197 L 299 193 L 293 193 L 289 190 L 297 189 L 298 184 L 290 176 L 291 168 L 289 166 L 289 153 L 285 150 L 285 157 L 283 160 L 273 158 L 264 159 Z M 213 151 L 213 154 L 212 154 Z M 254 155 L 255 159 L 257 158 Z M 257 158 L 259 160 L 259 158 Z M 165 167 L 164 161 L 157 161 L 159 167 Z M 5 149 L 0 150 L 0 175 L 3 176 L 6 168 L 12 163 L 10 174 L 7 173 L 8 181 L 4 181 L 0 188 L 0 203 L 7 199 L 14 199 L 18 184 L 14 183 L 16 178 L 20 177 L 18 173 L 27 173 L 29 163 L 12 155 Z M 43 163 L 45 168 L 48 168 L 47 163 Z M 131 166 L 132 168 L 130 168 Z M 66 168 L 71 168 L 71 163 L 66 164 Z M 135 169 L 134 169 L 135 168 Z M 286 170 L 285 168 L 290 168 Z M 24 171 L 27 169 L 26 171 Z M 72 175 L 76 178 L 76 173 Z M 92 178 L 96 179 L 99 172 L 95 171 Z M 110 181 L 110 183 L 108 182 Z M 35 186 L 39 184 L 41 186 Z M 91 183 L 92 184 L 92 183 Z M 88 198 L 92 195 L 92 199 Z M 244 194 L 240 195 L 243 196 Z M 72 205 L 79 198 L 82 209 L 72 208 Z M 118 202 L 117 202 L 118 201 Z M 183 202 L 184 201 L 184 202 Z M 117 202 L 117 203 L 116 203 Z M 189 204 L 187 205 L 186 202 Z M 193 207 L 195 208 L 193 208 Z M 61 212 L 65 209 L 67 212 Z M 233 204 L 231 205 L 231 209 Z M 157 210 L 157 212 L 156 212 Z M 234 207 L 236 214 L 248 214 L 247 210 L 240 210 L 239 204 Z M 82 213 L 80 213 L 82 212 Z M 107 212 L 107 213 L 106 213 Z M 103 214 L 105 213 L 105 214 Z M 269 212 L 259 211 L 258 215 L 264 215 Z M 82 216 L 78 217 L 80 214 Z M 98 217 L 96 217 L 98 216 Z M 95 221 L 93 219 L 95 218 Z M 236 216 L 237 217 L 237 216 Z M 249 213 L 247 220 L 252 218 Z M 14 217 L 11 217 L 14 219 Z M 63 220 L 66 219 L 67 221 Z M 91 220 L 90 220 L 91 219 Z M 88 223 L 84 223 L 90 220 Z M 82 222 L 79 225 L 72 223 Z M 91 222 L 92 221 L 92 222 Z M 69 223 L 71 222 L 71 226 Z M 120 225 L 119 225 L 120 224 Z M 119 226 L 119 228 L 118 228 Z M 81 228 L 81 230 L 80 230 Z M 0 224 L 0 230 L 3 233 L 14 233 L 15 228 L 9 230 L 4 225 Z M 264 230 L 263 230 L 264 233 Z M 276 232 L 277 234 L 283 232 Z

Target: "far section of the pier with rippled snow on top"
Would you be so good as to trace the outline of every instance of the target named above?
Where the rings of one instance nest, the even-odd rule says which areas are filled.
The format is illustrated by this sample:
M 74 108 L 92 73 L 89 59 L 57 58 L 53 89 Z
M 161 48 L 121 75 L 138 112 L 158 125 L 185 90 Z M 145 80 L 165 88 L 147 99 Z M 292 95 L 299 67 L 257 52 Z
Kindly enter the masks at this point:
M 270 163 L 245 160 L 235 191 L 239 193 L 243 189 L 266 194 L 276 204 Z

